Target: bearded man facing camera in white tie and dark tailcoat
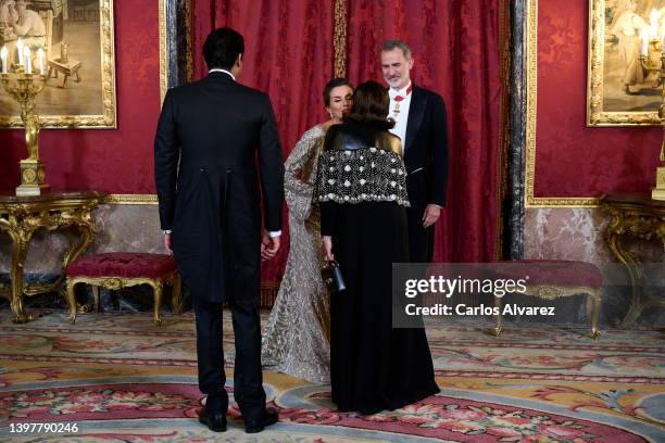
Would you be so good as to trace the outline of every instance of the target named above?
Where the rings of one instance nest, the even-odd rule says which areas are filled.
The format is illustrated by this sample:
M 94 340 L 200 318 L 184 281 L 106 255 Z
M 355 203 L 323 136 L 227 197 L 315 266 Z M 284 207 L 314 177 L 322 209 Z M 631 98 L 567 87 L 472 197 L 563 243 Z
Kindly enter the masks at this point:
M 391 132 L 402 139 L 406 166 L 409 244 L 412 263 L 429 263 L 434 253 L 434 224 L 446 206 L 448 189 L 448 122 L 446 104 L 436 92 L 411 81 L 413 56 L 401 40 L 380 49 L 384 79 L 390 86 L 388 117 Z

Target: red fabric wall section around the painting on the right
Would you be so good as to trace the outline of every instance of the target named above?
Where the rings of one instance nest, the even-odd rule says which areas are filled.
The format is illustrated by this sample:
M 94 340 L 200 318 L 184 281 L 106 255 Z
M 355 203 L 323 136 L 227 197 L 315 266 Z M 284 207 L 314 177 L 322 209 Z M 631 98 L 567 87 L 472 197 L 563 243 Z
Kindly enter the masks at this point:
M 662 130 L 586 127 L 588 1 L 538 2 L 535 197 L 599 197 L 654 186 Z

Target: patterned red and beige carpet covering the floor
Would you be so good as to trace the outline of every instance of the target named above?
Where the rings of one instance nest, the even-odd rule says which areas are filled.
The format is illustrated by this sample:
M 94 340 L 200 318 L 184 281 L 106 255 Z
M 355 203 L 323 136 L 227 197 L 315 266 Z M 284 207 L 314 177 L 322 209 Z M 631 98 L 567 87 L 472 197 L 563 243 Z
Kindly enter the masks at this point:
M 374 416 L 339 414 L 328 387 L 265 372 L 280 421 L 249 435 L 235 408 L 226 433 L 196 420 L 191 314 L 156 328 L 148 314 L 83 314 L 70 326 L 62 311 L 39 313 L 13 325 L 0 311 L 0 441 L 665 442 L 658 331 L 610 330 L 593 342 L 584 327 L 507 325 L 495 339 L 485 325 L 451 322 L 428 331 L 439 395 Z M 77 432 L 11 432 L 25 423 Z

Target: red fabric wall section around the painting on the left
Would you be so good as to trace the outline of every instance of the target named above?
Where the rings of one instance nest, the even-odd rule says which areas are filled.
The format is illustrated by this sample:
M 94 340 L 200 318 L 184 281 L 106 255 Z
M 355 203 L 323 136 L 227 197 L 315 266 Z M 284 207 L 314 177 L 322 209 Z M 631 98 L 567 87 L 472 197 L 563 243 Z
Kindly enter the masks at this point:
M 117 129 L 42 129 L 40 156 L 47 164 L 47 182 L 55 190 L 154 193 L 152 140 L 160 111 L 158 2 L 114 3 Z M 18 185 L 17 162 L 25 156 L 23 130 L 1 130 L 0 189 Z

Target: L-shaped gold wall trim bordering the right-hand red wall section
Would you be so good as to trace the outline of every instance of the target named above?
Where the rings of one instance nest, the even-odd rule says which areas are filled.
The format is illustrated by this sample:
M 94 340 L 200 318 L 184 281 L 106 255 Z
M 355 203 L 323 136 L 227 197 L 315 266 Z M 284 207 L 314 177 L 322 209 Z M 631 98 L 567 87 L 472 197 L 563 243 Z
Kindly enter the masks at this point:
M 535 197 L 536 123 L 538 111 L 538 0 L 528 0 L 527 24 L 527 127 L 526 127 L 526 207 L 595 207 L 598 198 Z

